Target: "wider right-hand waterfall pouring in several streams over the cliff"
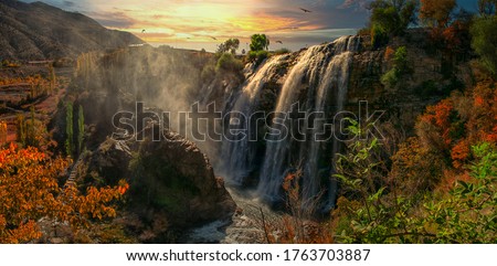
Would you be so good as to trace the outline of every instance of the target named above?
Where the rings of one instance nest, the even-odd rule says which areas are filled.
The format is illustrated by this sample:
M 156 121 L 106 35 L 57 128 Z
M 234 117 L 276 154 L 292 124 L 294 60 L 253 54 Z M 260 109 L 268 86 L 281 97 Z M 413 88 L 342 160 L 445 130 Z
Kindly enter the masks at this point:
M 279 98 L 275 114 L 289 114 L 294 111 L 296 103 L 305 109 L 306 118 L 313 113 L 338 113 L 343 109 L 347 87 L 349 82 L 350 65 L 353 52 L 357 51 L 359 39 L 345 36 L 334 43 L 311 46 L 298 58 L 298 62 L 289 72 Z M 302 94 L 306 93 L 306 100 L 302 103 Z M 331 106 L 328 106 L 330 105 Z M 276 115 L 279 116 L 279 115 Z M 289 129 L 290 121 L 283 117 L 277 125 L 273 125 L 273 131 Z M 307 141 L 297 141 L 287 136 L 284 139 L 273 137 L 267 141 L 265 161 L 260 177 L 258 192 L 265 199 L 281 200 L 282 182 L 290 169 L 303 170 L 303 198 L 311 202 L 320 191 L 319 159 L 322 158 L 320 149 L 324 142 L 316 141 L 316 134 L 322 131 L 324 119 L 315 119 L 310 127 L 309 119 L 305 123 Z M 338 151 L 338 141 L 332 140 L 334 155 L 327 155 L 329 164 L 331 158 Z M 330 171 L 327 171 L 330 175 Z M 328 177 L 329 177 L 328 175 Z M 335 199 L 336 185 L 330 180 L 328 185 L 331 203 Z M 306 204 L 306 203 L 304 203 Z

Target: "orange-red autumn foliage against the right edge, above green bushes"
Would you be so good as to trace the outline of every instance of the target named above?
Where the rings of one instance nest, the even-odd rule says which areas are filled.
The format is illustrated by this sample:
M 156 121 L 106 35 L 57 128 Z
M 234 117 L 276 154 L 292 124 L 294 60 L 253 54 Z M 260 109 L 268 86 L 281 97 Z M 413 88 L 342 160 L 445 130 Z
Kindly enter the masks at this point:
M 497 84 L 479 81 L 465 94 L 455 93 L 427 107 L 416 125 L 421 142 L 464 170 L 470 147 L 483 141 L 497 143 Z

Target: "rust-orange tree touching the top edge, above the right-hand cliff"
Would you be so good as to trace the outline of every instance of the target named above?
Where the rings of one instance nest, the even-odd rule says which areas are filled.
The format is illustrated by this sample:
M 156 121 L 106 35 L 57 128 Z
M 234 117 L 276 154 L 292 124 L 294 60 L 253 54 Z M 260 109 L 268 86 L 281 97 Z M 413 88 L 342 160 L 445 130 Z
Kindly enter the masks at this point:
M 455 0 L 421 0 L 420 18 L 429 26 L 446 28 L 456 7 Z

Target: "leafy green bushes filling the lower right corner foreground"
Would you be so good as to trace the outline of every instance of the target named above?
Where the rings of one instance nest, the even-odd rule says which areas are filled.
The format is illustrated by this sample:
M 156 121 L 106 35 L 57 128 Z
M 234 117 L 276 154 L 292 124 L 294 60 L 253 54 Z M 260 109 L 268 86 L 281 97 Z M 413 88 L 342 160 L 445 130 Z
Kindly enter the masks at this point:
M 357 124 L 349 131 L 361 134 Z M 496 243 L 494 146 L 473 147 L 469 180 L 457 181 L 447 193 L 417 195 L 399 194 L 395 182 L 378 182 L 376 170 L 384 163 L 374 157 L 378 147 L 377 139 L 356 140 L 338 157 L 335 177 L 349 195 L 338 200 L 332 214 L 338 243 Z

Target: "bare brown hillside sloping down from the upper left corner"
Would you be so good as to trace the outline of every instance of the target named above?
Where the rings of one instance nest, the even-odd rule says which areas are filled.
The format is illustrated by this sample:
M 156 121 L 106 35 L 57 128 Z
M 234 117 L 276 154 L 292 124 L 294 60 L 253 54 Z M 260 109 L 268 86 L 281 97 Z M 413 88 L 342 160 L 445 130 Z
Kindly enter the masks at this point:
M 129 32 L 42 2 L 0 0 L 0 60 L 49 60 L 144 43 Z

